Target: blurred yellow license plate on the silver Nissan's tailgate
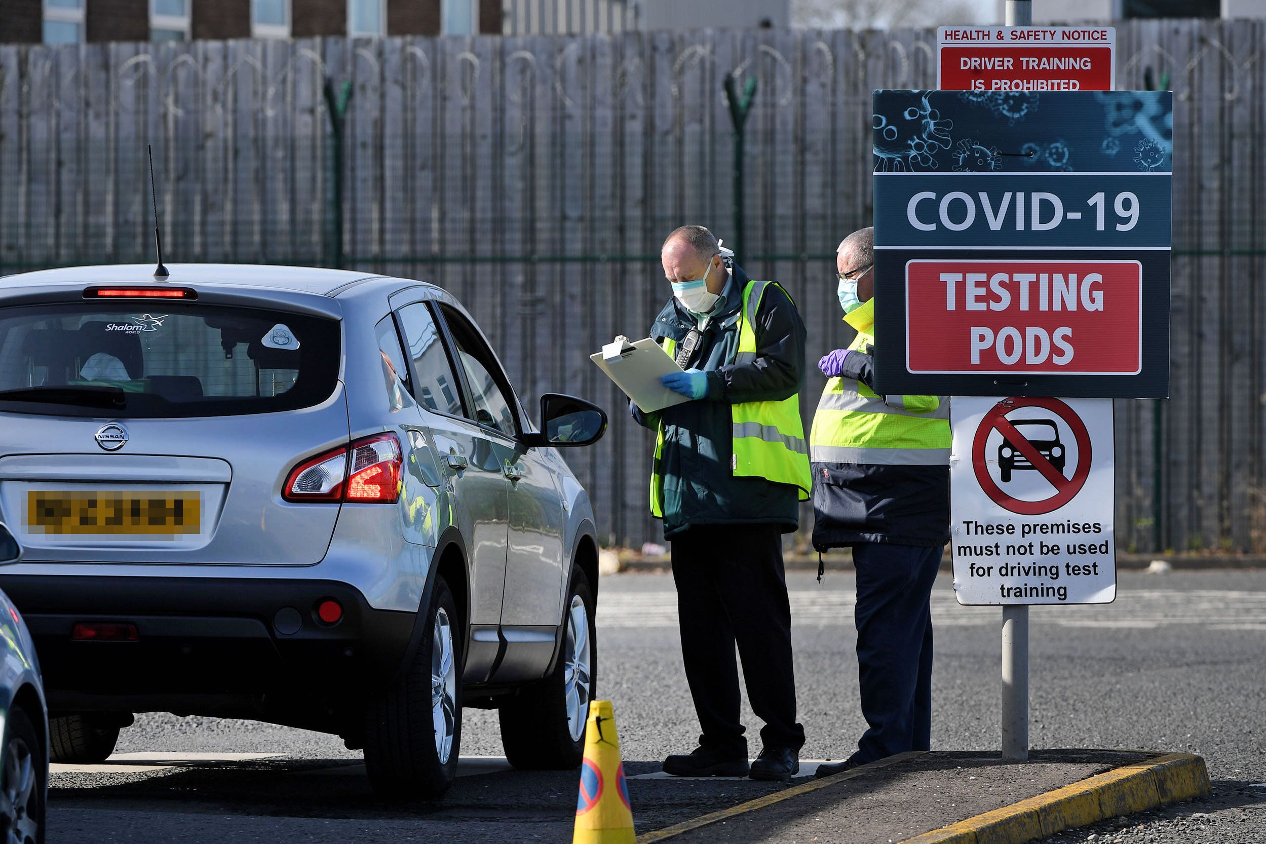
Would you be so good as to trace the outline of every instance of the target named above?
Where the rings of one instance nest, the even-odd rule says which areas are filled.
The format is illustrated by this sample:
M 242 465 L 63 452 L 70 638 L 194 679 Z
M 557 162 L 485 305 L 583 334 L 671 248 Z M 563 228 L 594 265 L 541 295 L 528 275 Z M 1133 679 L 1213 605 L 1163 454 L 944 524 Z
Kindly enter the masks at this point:
M 30 490 L 27 529 L 51 535 L 197 534 L 203 530 L 203 496 L 160 490 Z

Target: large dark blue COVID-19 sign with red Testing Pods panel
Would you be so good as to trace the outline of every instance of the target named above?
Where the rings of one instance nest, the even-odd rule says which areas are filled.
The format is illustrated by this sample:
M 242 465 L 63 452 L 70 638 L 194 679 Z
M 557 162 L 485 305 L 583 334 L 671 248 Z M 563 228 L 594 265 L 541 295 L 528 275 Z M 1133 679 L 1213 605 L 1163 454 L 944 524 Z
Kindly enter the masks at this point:
M 1169 395 L 1166 91 L 876 91 L 875 387 Z

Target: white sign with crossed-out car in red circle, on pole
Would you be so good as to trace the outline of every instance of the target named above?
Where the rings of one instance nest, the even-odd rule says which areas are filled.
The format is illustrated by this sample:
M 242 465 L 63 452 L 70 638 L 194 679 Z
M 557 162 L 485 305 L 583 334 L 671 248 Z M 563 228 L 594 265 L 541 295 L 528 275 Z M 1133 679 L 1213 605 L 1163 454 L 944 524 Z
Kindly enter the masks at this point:
M 1112 400 L 955 396 L 950 416 L 958 602 L 1112 602 Z

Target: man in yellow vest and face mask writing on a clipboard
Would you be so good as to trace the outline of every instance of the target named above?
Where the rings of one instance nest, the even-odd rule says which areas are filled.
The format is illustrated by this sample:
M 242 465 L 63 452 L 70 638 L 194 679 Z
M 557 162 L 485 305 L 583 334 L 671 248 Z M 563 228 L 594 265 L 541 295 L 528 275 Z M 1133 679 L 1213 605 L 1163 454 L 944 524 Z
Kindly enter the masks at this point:
M 685 369 L 665 386 L 690 401 L 633 418 L 656 431 L 651 511 L 672 544 L 681 655 L 701 735 L 670 755 L 676 776 L 789 779 L 799 772 L 791 609 L 782 534 L 809 497 L 800 420 L 805 328 L 779 285 L 751 281 L 701 225 L 663 242 L 674 297 L 651 337 Z M 738 645 L 763 749 L 748 767 Z

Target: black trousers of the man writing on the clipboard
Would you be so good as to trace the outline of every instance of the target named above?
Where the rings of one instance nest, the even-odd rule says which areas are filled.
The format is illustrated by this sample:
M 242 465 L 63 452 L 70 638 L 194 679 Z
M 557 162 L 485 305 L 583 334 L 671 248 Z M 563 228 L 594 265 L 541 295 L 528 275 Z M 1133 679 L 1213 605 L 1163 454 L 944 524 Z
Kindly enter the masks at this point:
M 681 619 L 681 657 L 703 735 L 699 744 L 747 754 L 738 720 L 738 664 L 747 698 L 765 721 L 765 747 L 799 750 L 791 606 L 779 525 L 696 525 L 672 538 L 672 580 Z

